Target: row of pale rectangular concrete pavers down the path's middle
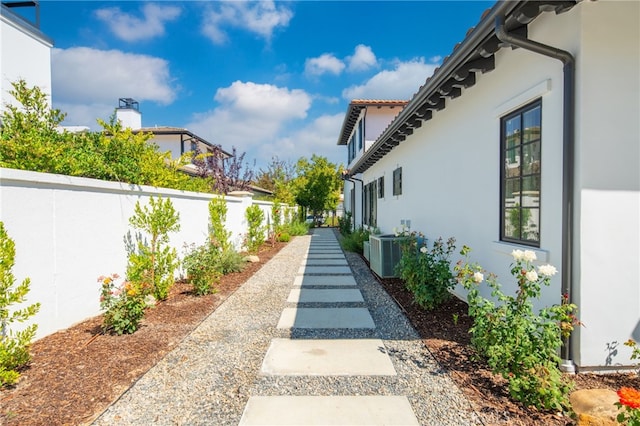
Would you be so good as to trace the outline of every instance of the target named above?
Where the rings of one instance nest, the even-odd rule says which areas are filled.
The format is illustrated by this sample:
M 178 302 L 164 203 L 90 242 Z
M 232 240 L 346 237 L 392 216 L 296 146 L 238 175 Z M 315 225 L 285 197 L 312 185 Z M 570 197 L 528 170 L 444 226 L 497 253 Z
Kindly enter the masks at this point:
M 316 229 L 292 283 L 278 328 L 375 329 L 351 268 L 331 229 Z M 314 307 L 304 307 L 308 303 Z M 267 376 L 395 376 L 380 339 L 273 339 Z M 404 395 L 252 396 L 240 425 L 419 425 Z

